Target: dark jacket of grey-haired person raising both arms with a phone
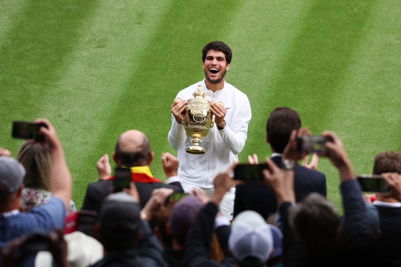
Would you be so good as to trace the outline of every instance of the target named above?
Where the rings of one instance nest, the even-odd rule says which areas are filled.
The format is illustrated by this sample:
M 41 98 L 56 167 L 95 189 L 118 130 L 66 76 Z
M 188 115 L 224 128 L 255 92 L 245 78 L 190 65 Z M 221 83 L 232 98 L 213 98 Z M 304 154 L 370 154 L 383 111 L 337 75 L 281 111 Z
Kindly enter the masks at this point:
M 375 255 L 373 232 L 358 182 L 354 179 L 342 182 L 340 189 L 344 204 L 344 214 L 346 215 L 342 225 L 341 241 L 333 244 L 332 249 L 310 257 L 307 256 L 308 253 L 304 245 L 294 239 L 294 233 L 288 219 L 288 208 L 292 204 L 286 202 L 279 207 L 284 229 L 284 266 L 389 266 L 379 261 Z

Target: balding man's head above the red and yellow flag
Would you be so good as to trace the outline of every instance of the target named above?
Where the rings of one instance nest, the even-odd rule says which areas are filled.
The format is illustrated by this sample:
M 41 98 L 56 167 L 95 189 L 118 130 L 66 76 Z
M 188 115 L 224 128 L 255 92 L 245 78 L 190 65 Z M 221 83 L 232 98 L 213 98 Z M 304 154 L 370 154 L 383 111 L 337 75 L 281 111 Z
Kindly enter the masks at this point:
M 115 145 L 115 158 L 120 166 L 149 165 L 153 157 L 148 138 L 138 130 L 124 132 Z

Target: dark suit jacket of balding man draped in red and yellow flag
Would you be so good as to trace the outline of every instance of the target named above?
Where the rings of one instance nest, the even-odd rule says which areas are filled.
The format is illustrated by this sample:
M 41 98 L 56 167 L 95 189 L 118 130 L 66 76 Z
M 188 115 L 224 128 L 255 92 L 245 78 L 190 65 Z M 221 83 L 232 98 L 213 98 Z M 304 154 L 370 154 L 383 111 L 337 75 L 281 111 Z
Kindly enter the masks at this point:
M 113 180 L 98 180 L 97 182 L 88 184 L 82 209 L 99 212 L 101 201 L 110 194 L 110 186 L 113 186 Z M 163 182 L 135 182 L 135 186 L 136 189 L 138 189 L 141 208 L 145 206 L 150 196 L 152 196 L 153 189 L 164 187 L 172 188 L 174 192 L 184 192 L 180 182 L 172 182 L 171 184 L 165 184 Z

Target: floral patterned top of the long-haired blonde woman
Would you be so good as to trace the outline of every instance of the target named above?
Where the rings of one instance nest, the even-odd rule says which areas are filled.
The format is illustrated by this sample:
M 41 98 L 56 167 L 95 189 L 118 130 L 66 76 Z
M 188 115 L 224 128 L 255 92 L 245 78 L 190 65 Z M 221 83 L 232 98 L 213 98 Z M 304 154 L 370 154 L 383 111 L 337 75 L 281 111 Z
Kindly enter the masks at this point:
M 22 190 L 22 205 L 25 208 L 25 212 L 29 212 L 32 208 L 45 204 L 51 198 L 51 192 L 36 189 L 36 188 L 24 188 Z M 70 200 L 70 211 L 67 216 L 77 212 L 77 207 L 72 200 Z

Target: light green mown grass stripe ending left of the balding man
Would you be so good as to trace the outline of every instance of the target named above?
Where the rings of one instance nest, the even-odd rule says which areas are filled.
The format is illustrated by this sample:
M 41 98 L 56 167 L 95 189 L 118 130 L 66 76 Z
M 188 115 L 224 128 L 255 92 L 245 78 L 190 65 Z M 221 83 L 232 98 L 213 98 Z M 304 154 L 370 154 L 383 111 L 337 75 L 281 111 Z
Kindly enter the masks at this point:
M 129 113 L 119 105 L 119 98 L 127 99 L 126 91 L 136 90 L 127 88 L 126 83 L 136 69 L 141 69 L 138 60 L 169 2 L 154 5 L 157 8 L 151 8 L 149 2 L 102 3 L 81 28 L 66 73 L 53 89 L 53 95 L 65 95 L 49 101 L 47 111 L 57 110 L 53 117 L 60 123 L 78 206 L 87 184 L 98 178 L 97 160 L 108 153 L 112 161 L 118 137 L 113 131 L 115 122 Z M 138 99 L 127 101 L 132 108 Z M 122 124 L 130 128 L 132 120 L 127 118 Z

